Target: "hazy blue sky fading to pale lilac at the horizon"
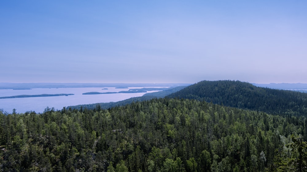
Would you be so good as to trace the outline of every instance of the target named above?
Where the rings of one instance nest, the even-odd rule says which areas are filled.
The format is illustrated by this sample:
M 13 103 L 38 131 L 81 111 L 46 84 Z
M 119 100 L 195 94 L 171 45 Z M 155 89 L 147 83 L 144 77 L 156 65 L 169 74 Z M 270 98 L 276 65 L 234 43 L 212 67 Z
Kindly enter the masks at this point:
M 0 82 L 307 83 L 307 1 L 0 2 Z

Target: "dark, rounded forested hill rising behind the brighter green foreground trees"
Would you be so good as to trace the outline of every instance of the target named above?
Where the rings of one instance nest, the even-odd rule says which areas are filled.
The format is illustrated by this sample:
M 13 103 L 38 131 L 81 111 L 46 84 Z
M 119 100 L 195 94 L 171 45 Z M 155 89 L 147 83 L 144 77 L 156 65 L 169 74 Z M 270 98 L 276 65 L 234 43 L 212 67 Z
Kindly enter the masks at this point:
M 262 88 L 248 82 L 201 81 L 168 97 L 196 99 L 271 114 L 307 116 L 306 93 Z

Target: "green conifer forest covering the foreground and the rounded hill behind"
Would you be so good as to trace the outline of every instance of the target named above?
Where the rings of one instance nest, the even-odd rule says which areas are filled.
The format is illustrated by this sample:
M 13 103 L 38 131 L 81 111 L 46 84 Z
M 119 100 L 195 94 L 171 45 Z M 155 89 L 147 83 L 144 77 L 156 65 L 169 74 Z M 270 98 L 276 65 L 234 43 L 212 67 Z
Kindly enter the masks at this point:
M 307 171 L 305 93 L 212 81 L 227 94 L 197 84 L 109 109 L 0 111 L 0 170 Z M 208 101 L 209 94 L 223 101 Z M 225 103 L 233 97 L 241 104 Z

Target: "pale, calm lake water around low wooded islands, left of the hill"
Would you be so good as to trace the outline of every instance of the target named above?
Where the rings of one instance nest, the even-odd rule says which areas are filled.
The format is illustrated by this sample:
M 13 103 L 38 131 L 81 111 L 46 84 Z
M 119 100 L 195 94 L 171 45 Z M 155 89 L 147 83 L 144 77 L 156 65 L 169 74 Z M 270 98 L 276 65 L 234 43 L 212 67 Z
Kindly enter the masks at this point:
M 108 90 L 102 90 L 107 88 Z M 6 98 L 0 99 L 0 109 L 12 113 L 16 109 L 17 113 L 25 113 L 26 111 L 35 111 L 37 113 L 43 112 L 48 106 L 55 109 L 62 109 L 63 107 L 105 103 L 111 101 L 121 101 L 130 97 L 139 97 L 146 93 L 117 93 L 117 94 L 90 94 L 82 95 L 86 92 L 119 92 L 127 91 L 132 88 L 143 87 L 129 87 L 127 89 L 116 89 L 115 87 L 89 87 L 89 88 L 33 88 L 32 90 L 1 90 L 0 97 L 16 96 L 16 95 L 36 95 L 36 94 L 75 94 L 70 96 L 52 96 L 52 97 L 26 97 L 26 98 Z M 147 91 L 152 93 L 156 91 Z

